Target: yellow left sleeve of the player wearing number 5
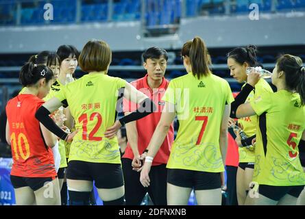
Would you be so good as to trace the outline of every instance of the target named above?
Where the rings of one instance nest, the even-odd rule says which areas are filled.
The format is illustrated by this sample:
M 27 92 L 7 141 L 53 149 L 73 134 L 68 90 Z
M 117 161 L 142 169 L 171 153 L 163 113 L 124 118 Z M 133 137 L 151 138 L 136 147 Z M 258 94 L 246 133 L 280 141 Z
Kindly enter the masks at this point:
M 268 110 L 271 108 L 273 103 L 272 96 L 272 93 L 265 92 L 260 94 L 260 96 L 258 96 L 256 99 L 249 102 L 254 112 L 256 112 L 258 116 L 264 112 L 268 112 Z

